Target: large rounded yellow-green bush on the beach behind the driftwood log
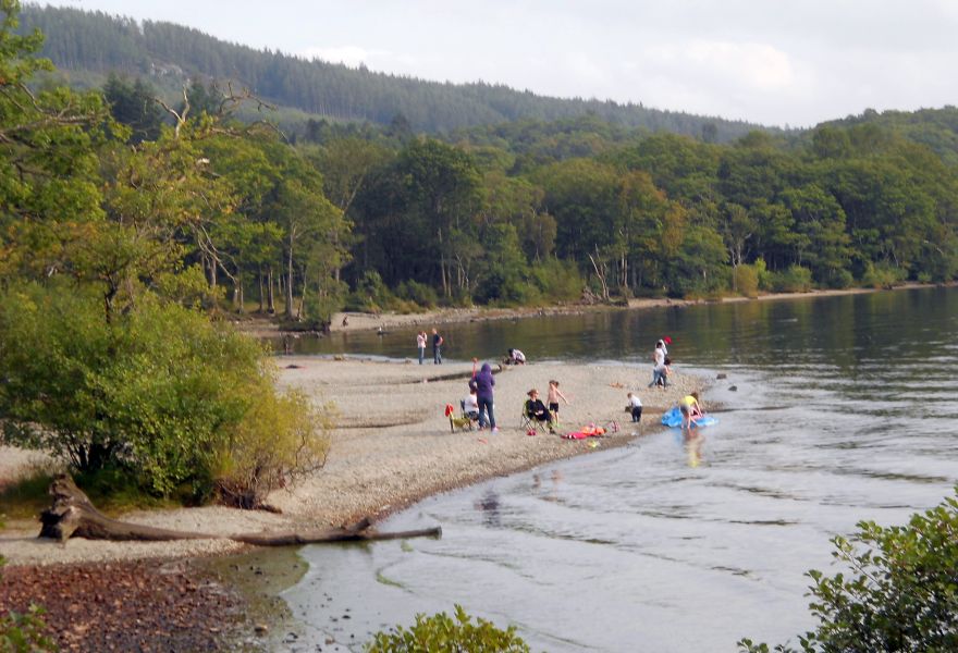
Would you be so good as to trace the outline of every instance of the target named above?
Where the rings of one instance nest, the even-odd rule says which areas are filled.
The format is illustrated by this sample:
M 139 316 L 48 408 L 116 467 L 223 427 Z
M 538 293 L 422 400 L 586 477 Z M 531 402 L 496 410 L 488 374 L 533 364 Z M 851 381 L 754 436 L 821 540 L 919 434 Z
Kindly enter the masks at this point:
M 4 436 L 81 472 L 126 470 L 143 490 L 219 490 L 251 507 L 324 459 L 323 418 L 278 394 L 261 346 L 149 294 L 105 320 L 67 285 L 0 294 Z

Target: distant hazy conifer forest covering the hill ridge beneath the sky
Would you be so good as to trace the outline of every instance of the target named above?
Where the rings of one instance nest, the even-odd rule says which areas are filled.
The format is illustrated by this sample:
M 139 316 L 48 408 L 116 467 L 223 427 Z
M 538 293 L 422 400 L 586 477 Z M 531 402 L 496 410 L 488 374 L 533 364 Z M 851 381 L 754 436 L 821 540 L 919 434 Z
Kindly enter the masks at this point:
M 386 75 L 363 66 L 254 50 L 171 23 L 138 24 L 99 12 L 27 5 L 21 23 L 25 32 L 39 28 L 47 35 L 41 53 L 64 71 L 115 72 L 174 87 L 187 77 L 232 79 L 270 102 L 314 118 L 377 124 L 398 118 L 417 132 L 441 133 L 518 119 L 553 121 L 591 113 L 624 126 L 705 134 L 718 141 L 758 127 L 640 104 L 542 97 L 498 84 L 443 84 Z M 292 116 L 283 121 L 284 127 L 293 130 L 304 120 Z

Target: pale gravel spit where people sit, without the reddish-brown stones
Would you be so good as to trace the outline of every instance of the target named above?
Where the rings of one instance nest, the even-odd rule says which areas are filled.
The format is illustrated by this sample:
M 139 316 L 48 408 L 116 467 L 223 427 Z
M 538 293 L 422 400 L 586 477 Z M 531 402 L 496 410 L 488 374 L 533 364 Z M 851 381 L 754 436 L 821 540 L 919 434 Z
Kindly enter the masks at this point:
M 646 387 L 649 366 L 530 364 L 496 374 L 495 415 L 500 432 L 450 431 L 444 406 L 458 409 L 467 392 L 471 365 L 423 365 L 311 357 L 281 359 L 281 382 L 308 393 L 317 405 L 333 403 L 340 414 L 323 469 L 295 488 L 281 490 L 270 503 L 282 515 L 223 507 L 153 510 L 125 515 L 131 521 L 213 533 L 339 525 L 365 515 L 382 516 L 453 488 L 528 469 L 551 460 L 627 443 L 632 433 L 653 429 L 658 417 L 702 380 L 674 370 L 667 390 Z M 441 375 L 459 374 L 453 380 Z M 604 439 L 568 441 L 555 435 L 529 436 L 519 430 L 526 392 L 545 395 L 550 379 L 572 405 L 560 411 L 561 432 L 616 420 L 623 429 Z M 638 392 L 646 406 L 642 429 L 632 429 L 624 411 L 626 393 Z M 0 451 L 0 479 L 34 461 L 10 448 Z M 8 460 L 17 464 L 8 464 Z M 38 526 L 9 523 L 0 531 L 0 555 L 11 565 L 180 557 L 235 551 L 223 540 L 184 542 L 40 542 Z

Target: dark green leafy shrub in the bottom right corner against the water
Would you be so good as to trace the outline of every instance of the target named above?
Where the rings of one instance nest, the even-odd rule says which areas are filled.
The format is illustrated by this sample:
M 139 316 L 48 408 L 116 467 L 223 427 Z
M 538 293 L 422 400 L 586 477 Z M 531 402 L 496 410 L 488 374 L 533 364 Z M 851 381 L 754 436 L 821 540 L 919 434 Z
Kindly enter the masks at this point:
M 958 486 L 935 508 L 912 515 L 907 526 L 861 521 L 850 540 L 836 537 L 833 556 L 849 572 L 811 570 L 819 619 L 799 636 L 803 653 L 958 651 Z M 769 645 L 739 642 L 748 653 Z M 796 650 L 779 644 L 781 653 Z

